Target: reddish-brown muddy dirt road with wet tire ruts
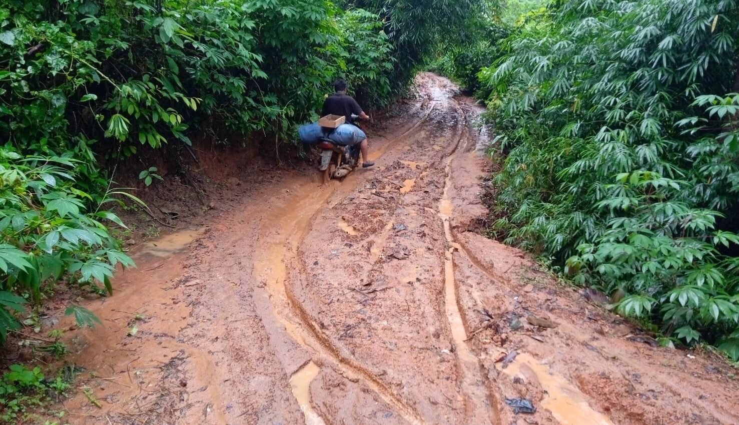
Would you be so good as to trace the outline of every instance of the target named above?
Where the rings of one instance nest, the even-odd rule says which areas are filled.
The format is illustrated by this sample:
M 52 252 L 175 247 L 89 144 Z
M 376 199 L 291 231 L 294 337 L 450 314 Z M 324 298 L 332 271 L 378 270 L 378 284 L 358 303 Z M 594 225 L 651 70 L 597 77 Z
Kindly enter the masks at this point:
M 452 83 L 370 132 L 373 169 L 256 185 L 136 254 L 68 333 L 88 424 L 737 424 L 732 370 L 650 339 L 475 230 L 480 108 Z M 514 415 L 506 399 L 527 398 Z

